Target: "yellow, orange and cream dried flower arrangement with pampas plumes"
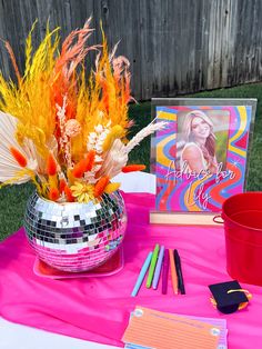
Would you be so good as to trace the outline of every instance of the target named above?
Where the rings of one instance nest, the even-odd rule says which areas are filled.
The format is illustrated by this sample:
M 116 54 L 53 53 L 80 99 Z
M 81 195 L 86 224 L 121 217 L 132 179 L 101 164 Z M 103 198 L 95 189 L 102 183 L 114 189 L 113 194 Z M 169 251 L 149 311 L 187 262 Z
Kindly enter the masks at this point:
M 127 164 L 130 151 L 164 122 L 151 122 L 130 141 L 128 118 L 129 61 L 110 53 L 102 32 L 100 46 L 87 46 L 90 19 L 72 31 L 59 52 L 59 28 L 47 34 L 32 54 L 32 31 L 26 42 L 20 74 L 8 42 L 18 83 L 0 73 L 1 186 L 32 180 L 39 195 L 58 202 L 88 202 L 120 187 L 118 173 L 142 170 Z M 83 60 L 97 51 L 85 76 Z

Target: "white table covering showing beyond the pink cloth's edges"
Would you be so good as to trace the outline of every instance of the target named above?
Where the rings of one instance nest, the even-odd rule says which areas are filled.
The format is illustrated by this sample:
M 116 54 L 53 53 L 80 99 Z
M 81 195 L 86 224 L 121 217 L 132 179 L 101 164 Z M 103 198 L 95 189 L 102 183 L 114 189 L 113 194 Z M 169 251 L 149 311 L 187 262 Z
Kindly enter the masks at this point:
M 135 178 L 135 180 L 134 180 Z M 155 192 L 155 177 L 150 173 L 135 172 L 119 174 L 114 181 L 121 182 L 125 192 Z M 67 336 L 56 335 L 27 326 L 9 322 L 0 317 L 0 348 L 1 349 L 110 349 L 118 348 L 100 345 Z

